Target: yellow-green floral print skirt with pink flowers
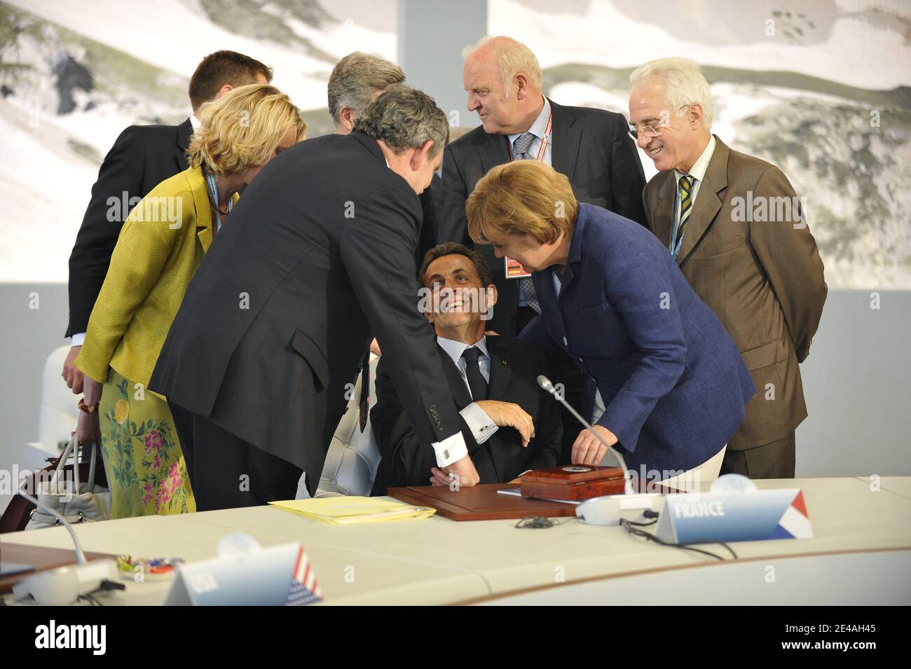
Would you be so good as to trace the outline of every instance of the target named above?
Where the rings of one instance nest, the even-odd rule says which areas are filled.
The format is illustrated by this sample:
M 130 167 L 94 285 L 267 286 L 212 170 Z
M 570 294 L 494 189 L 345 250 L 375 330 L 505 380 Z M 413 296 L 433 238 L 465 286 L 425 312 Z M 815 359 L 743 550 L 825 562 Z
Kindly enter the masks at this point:
M 98 414 L 111 518 L 195 512 L 168 402 L 111 369 Z

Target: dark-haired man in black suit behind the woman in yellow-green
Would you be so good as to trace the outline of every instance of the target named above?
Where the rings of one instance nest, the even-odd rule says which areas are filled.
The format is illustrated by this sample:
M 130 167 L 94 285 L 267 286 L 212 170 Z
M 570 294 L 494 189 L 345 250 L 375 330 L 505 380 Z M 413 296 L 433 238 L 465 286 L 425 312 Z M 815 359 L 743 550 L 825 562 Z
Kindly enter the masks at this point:
M 130 209 L 165 179 L 187 168 L 186 150 L 199 127 L 196 111 L 245 84 L 268 84 L 272 69 L 250 56 L 216 51 L 202 59 L 189 79 L 193 115 L 179 126 L 130 126 L 117 138 L 98 169 L 82 227 L 69 257 L 69 325 L 72 347 L 63 377 L 74 393 L 82 392 L 83 374 L 73 365 L 86 337 L 88 317 L 107 275 L 111 253 Z

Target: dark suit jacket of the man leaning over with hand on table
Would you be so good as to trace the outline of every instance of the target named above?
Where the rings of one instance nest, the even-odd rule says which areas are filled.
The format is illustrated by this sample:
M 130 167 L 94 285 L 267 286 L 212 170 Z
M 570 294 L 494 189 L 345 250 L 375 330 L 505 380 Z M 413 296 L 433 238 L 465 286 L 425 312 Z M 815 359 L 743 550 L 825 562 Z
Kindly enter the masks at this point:
M 307 472 L 370 340 L 425 448 L 461 429 L 417 309 L 420 202 L 361 133 L 301 142 L 253 180 L 190 281 L 149 388 Z

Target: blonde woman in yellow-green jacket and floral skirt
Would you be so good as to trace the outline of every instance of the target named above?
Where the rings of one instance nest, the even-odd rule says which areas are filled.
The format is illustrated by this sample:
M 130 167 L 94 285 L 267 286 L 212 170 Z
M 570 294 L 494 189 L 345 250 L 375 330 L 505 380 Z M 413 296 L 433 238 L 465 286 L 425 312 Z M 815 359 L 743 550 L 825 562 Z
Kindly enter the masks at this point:
M 241 188 L 304 137 L 300 110 L 273 86 L 239 86 L 200 107 L 189 168 L 130 212 L 75 364 L 86 375 L 79 441 L 98 441 L 111 518 L 196 511 L 177 431 L 146 390 L 161 346 Z

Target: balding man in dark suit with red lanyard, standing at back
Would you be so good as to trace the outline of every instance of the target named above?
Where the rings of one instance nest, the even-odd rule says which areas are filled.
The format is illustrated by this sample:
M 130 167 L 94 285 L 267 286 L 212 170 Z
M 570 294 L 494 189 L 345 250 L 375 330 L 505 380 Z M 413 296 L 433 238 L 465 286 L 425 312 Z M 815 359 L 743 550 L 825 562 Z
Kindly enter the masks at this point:
M 468 111 L 481 127 L 453 142 L 443 161 L 437 199 L 437 243 L 468 238 L 465 204 L 487 170 L 511 160 L 539 160 L 566 175 L 581 202 L 645 224 L 640 193 L 645 185 L 636 147 L 622 114 L 562 106 L 542 93 L 541 66 L 527 46 L 488 36 L 463 51 Z M 490 328 L 517 335 L 540 308 L 530 278 L 507 279 L 506 263 L 489 245 L 477 248 L 494 271 L 499 302 Z

